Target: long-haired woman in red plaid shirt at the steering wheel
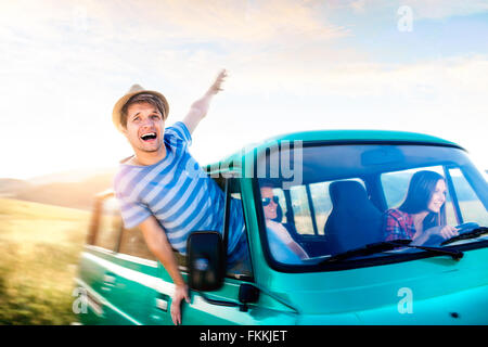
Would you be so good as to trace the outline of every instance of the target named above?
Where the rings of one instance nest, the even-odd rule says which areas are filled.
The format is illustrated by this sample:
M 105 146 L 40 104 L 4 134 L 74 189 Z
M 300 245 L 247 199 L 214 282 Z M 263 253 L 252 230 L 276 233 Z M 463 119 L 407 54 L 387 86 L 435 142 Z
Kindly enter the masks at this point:
M 434 235 L 444 240 L 458 235 L 458 229 L 446 222 L 446 180 L 437 172 L 415 172 L 407 197 L 398 208 L 386 211 L 385 240 L 410 239 L 423 245 Z

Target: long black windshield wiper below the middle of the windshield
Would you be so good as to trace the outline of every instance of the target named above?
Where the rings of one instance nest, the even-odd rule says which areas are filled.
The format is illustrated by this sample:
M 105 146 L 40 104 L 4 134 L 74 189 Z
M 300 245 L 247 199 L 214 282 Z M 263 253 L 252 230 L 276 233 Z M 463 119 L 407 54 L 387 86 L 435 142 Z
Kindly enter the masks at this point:
M 425 252 L 439 254 L 439 255 L 447 255 L 452 257 L 452 259 L 459 260 L 463 257 L 463 253 L 461 250 L 457 249 L 444 249 L 439 247 L 427 247 L 427 246 L 416 246 L 416 245 L 410 245 L 412 240 L 410 239 L 401 239 L 401 240 L 395 240 L 395 241 L 384 241 L 384 242 L 377 242 L 377 243 L 371 243 L 365 246 L 346 250 L 344 253 L 339 253 L 336 255 L 331 256 L 328 259 L 322 260 L 320 264 L 326 264 L 326 262 L 335 262 L 345 260 L 352 257 L 359 257 L 359 256 L 369 256 L 375 253 L 382 253 L 386 250 L 393 250 L 398 247 L 410 247 L 410 248 L 419 248 L 423 249 Z

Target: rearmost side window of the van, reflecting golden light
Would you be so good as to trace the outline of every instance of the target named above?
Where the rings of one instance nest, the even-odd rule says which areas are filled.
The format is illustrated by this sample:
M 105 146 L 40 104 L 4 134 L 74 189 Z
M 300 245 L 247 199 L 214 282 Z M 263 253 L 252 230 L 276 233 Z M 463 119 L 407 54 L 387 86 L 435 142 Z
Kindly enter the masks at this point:
M 120 206 L 118 201 L 111 196 L 102 202 L 99 226 L 94 245 L 108 250 L 117 250 L 121 230 Z

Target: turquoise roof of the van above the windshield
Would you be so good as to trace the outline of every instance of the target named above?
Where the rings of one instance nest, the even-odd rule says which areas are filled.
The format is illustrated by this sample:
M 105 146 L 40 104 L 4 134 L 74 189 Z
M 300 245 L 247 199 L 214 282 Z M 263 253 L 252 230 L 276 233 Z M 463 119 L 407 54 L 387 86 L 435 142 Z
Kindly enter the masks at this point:
M 299 131 L 279 134 L 266 139 L 258 143 L 253 143 L 244 146 L 237 152 L 224 157 L 219 162 L 215 162 L 204 166 L 207 172 L 223 171 L 221 168 L 231 165 L 231 163 L 240 163 L 241 159 L 251 152 L 257 151 L 260 154 L 262 151 L 275 146 L 282 142 L 301 141 L 303 143 L 317 144 L 337 144 L 337 143 L 412 143 L 412 144 L 435 144 L 454 146 L 463 150 L 459 144 L 447 141 L 441 138 L 409 131 L 393 131 L 393 130 L 312 130 Z M 232 167 L 230 168 L 232 170 Z

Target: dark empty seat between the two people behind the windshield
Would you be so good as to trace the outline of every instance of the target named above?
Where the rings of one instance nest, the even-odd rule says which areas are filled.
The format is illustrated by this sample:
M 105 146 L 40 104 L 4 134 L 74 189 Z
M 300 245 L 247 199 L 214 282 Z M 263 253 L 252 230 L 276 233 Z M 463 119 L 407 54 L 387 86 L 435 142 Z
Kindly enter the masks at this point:
M 332 211 L 324 227 L 333 254 L 383 241 L 383 214 L 371 203 L 361 183 L 336 181 L 329 185 Z

